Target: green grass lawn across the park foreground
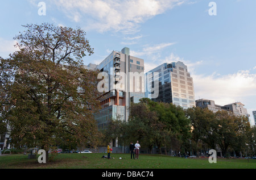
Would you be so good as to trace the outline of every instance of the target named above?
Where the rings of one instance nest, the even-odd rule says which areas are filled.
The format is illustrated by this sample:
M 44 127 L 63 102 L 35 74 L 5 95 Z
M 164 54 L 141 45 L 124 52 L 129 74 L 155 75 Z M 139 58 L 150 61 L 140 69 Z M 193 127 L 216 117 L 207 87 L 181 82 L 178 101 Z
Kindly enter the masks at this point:
M 53 162 L 39 164 L 37 159 L 28 160 L 28 155 L 11 154 L 0 156 L 0 169 L 49 168 L 49 169 L 256 169 L 256 160 L 217 158 L 210 164 L 207 158 L 181 158 L 164 155 L 140 154 L 131 160 L 130 154 L 115 154 L 114 159 L 101 158 L 102 153 L 59 154 Z M 38 155 L 39 156 L 39 155 Z M 119 157 L 122 157 L 120 160 Z

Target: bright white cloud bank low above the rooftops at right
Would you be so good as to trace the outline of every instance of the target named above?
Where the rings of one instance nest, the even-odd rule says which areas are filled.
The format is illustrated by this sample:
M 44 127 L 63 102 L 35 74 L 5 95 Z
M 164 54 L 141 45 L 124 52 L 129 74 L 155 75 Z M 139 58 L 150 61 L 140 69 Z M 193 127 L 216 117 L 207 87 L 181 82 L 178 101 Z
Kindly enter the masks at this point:
M 249 114 L 256 109 L 256 74 L 249 70 L 240 70 L 225 76 L 213 73 L 210 76 L 193 74 L 192 77 L 196 99 L 211 99 L 222 106 L 242 102 Z

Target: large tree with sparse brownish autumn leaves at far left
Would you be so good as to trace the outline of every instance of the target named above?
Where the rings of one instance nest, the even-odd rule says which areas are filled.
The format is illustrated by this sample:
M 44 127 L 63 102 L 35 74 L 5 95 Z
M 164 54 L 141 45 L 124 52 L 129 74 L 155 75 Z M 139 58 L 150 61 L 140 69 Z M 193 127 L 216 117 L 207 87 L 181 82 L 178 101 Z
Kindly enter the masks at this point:
M 48 23 L 23 27 L 26 30 L 14 38 L 19 51 L 3 69 L 14 74 L 6 91 L 11 143 L 45 150 L 67 139 L 96 145 L 93 113 L 100 102 L 97 72 L 82 65 L 83 57 L 93 54 L 85 32 Z

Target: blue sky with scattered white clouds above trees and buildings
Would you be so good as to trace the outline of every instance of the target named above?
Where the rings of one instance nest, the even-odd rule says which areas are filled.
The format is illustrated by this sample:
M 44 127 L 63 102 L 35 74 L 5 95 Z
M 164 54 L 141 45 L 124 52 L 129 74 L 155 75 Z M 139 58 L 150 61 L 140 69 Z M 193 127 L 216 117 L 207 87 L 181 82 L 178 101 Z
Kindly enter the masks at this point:
M 123 47 L 144 59 L 146 71 L 180 60 L 191 72 L 196 99 L 256 110 L 255 0 L 47 0 L 40 16 L 41 1 L 1 1 L 0 56 L 15 51 L 22 24 L 79 26 L 95 52 L 85 65 Z M 212 1 L 216 16 L 208 13 Z

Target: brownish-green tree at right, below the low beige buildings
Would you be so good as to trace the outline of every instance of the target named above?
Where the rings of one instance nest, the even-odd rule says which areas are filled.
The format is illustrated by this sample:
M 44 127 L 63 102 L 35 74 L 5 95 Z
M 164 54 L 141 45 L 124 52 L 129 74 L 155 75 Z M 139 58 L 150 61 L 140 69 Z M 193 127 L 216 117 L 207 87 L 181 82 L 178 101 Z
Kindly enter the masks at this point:
M 250 123 L 245 116 L 228 111 L 214 113 L 208 108 L 193 107 L 186 110 L 192 124 L 192 140 L 203 142 L 208 148 L 218 146 L 225 156 L 229 151 L 244 152 L 250 139 Z M 195 147 L 197 148 L 197 147 Z

